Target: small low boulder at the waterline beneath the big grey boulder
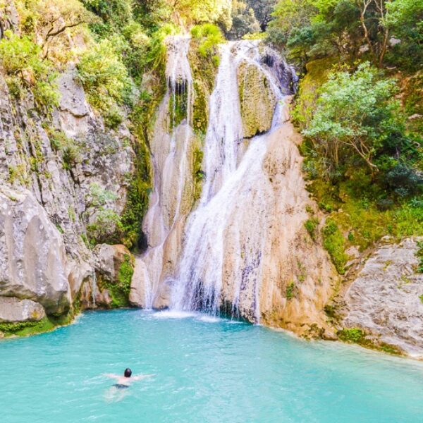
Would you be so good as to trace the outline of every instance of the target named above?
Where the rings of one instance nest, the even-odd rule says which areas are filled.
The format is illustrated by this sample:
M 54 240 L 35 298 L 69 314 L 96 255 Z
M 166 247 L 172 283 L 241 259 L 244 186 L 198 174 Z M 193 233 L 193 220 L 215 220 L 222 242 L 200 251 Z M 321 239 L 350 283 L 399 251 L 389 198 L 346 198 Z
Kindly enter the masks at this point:
M 39 321 L 45 317 L 44 308 L 32 300 L 0 297 L 0 322 Z

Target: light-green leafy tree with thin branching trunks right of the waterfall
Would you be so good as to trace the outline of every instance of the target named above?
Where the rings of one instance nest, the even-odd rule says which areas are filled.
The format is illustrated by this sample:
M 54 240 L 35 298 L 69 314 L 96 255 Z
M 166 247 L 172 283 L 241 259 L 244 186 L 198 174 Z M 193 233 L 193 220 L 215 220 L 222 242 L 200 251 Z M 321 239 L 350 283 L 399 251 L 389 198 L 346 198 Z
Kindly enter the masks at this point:
M 317 109 L 304 135 L 331 166 L 357 154 L 372 174 L 379 169 L 374 157 L 400 128 L 404 128 L 400 104 L 393 99 L 396 84 L 379 79 L 369 63 L 355 73 L 332 73 L 322 85 Z

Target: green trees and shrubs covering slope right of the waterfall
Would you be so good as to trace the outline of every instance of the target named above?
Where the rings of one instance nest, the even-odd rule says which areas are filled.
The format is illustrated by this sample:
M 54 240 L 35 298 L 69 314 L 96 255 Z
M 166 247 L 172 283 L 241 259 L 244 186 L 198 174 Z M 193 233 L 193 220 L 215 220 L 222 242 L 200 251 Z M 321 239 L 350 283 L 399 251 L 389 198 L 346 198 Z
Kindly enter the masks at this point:
M 340 273 L 350 246 L 423 234 L 422 18 L 409 0 L 279 0 L 266 31 L 302 71 L 292 116 Z

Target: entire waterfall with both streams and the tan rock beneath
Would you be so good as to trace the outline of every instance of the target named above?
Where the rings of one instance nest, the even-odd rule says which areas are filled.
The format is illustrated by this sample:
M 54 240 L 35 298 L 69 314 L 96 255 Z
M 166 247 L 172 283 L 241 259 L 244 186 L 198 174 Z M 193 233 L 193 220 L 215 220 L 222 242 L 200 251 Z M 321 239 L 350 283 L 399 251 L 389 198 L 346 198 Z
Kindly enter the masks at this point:
M 286 108 L 295 73 L 258 41 L 222 45 L 202 145 L 190 125 L 200 97 L 189 44 L 188 37 L 168 39 L 168 91 L 150 140 L 149 248 L 136 259 L 130 301 L 223 312 L 300 333 L 310 321 L 324 326 L 333 273 L 305 231 L 312 204 Z M 198 80 L 195 87 L 204 90 Z M 192 212 L 201 148 L 205 178 Z

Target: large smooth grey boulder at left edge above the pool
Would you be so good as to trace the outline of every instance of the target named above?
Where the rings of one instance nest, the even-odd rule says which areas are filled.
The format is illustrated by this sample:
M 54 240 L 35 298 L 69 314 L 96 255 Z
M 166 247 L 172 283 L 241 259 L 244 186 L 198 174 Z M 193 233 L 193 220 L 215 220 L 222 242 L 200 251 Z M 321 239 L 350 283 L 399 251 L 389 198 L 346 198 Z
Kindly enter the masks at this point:
M 61 234 L 29 191 L 0 191 L 0 295 L 66 312 L 71 292 Z

